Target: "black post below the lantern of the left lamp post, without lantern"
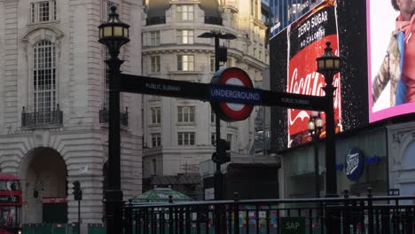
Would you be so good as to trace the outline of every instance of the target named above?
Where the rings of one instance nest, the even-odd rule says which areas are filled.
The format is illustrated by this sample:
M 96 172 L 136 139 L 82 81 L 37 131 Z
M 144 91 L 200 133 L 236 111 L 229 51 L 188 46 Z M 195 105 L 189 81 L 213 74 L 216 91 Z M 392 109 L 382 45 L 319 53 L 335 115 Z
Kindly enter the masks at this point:
M 116 56 L 106 60 L 109 66 L 108 187 L 106 188 L 106 233 L 122 233 L 120 66 Z

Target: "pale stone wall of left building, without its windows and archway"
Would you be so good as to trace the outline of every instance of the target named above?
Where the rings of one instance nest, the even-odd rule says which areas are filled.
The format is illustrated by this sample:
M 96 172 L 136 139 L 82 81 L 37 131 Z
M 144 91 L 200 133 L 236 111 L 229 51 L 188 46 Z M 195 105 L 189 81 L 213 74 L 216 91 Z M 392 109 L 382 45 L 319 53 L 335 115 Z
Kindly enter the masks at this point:
M 35 2 L 35 1 L 33 1 Z M 114 1 L 121 20 L 130 25 L 130 43 L 121 49 L 121 71 L 141 74 L 141 1 Z M 107 159 L 107 125 L 99 123 L 103 107 L 104 57 L 98 43 L 98 25 L 106 20 L 106 1 L 57 0 L 58 19 L 30 23 L 31 1 L 0 0 L 0 169 L 22 177 L 26 192 L 27 169 L 36 149 L 51 148 L 65 161 L 69 222 L 77 219 L 72 182 L 82 183 L 82 225 L 100 223 L 103 217 L 103 165 Z M 32 46 L 42 39 L 56 44 L 57 103 L 63 125 L 22 129 L 21 113 L 33 111 Z M 141 96 L 121 94 L 128 107 L 129 127 L 121 129 L 121 189 L 124 199 L 141 193 Z M 48 163 L 48 162 L 45 162 Z M 85 168 L 87 168 L 85 170 Z M 28 202 L 30 203 L 30 202 Z M 30 204 L 29 204 L 30 205 Z M 39 216 L 29 209 L 23 222 Z

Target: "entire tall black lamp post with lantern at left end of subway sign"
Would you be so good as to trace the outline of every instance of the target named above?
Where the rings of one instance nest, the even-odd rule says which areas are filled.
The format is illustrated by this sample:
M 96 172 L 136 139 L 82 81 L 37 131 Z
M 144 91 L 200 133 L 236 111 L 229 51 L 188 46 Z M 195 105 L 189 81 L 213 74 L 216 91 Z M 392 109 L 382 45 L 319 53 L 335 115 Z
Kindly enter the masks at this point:
M 122 23 L 111 6 L 108 22 L 99 26 L 99 43 L 108 48 L 109 67 L 109 121 L 108 121 L 108 186 L 106 187 L 106 233 L 122 233 L 122 191 L 120 151 L 120 66 L 121 46 L 129 43 L 129 25 Z

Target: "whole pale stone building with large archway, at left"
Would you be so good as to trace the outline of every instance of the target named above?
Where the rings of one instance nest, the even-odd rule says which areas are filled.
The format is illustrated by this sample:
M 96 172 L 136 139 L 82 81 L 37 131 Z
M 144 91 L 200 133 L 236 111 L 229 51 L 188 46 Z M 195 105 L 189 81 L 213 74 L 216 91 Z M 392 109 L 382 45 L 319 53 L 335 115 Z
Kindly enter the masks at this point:
M 0 0 L 0 169 L 19 175 L 23 223 L 43 222 L 43 199 L 81 182 L 82 226 L 103 222 L 107 160 L 106 49 L 98 25 L 111 4 L 130 27 L 121 71 L 141 73 L 141 1 Z M 121 94 L 121 189 L 141 193 L 141 96 Z

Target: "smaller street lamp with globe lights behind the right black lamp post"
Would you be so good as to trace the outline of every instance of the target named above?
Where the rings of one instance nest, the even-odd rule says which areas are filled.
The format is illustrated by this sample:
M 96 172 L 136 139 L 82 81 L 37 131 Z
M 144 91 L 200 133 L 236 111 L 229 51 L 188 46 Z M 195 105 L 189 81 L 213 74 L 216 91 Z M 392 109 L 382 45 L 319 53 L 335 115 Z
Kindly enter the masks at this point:
M 309 135 L 313 139 L 314 144 L 314 179 L 316 180 L 316 198 L 320 198 L 320 176 L 318 169 L 318 139 L 321 134 L 321 129 L 325 125 L 323 118 L 321 118 L 319 112 L 312 111 L 309 116 L 309 122 L 307 123 L 307 129 L 309 129 Z

